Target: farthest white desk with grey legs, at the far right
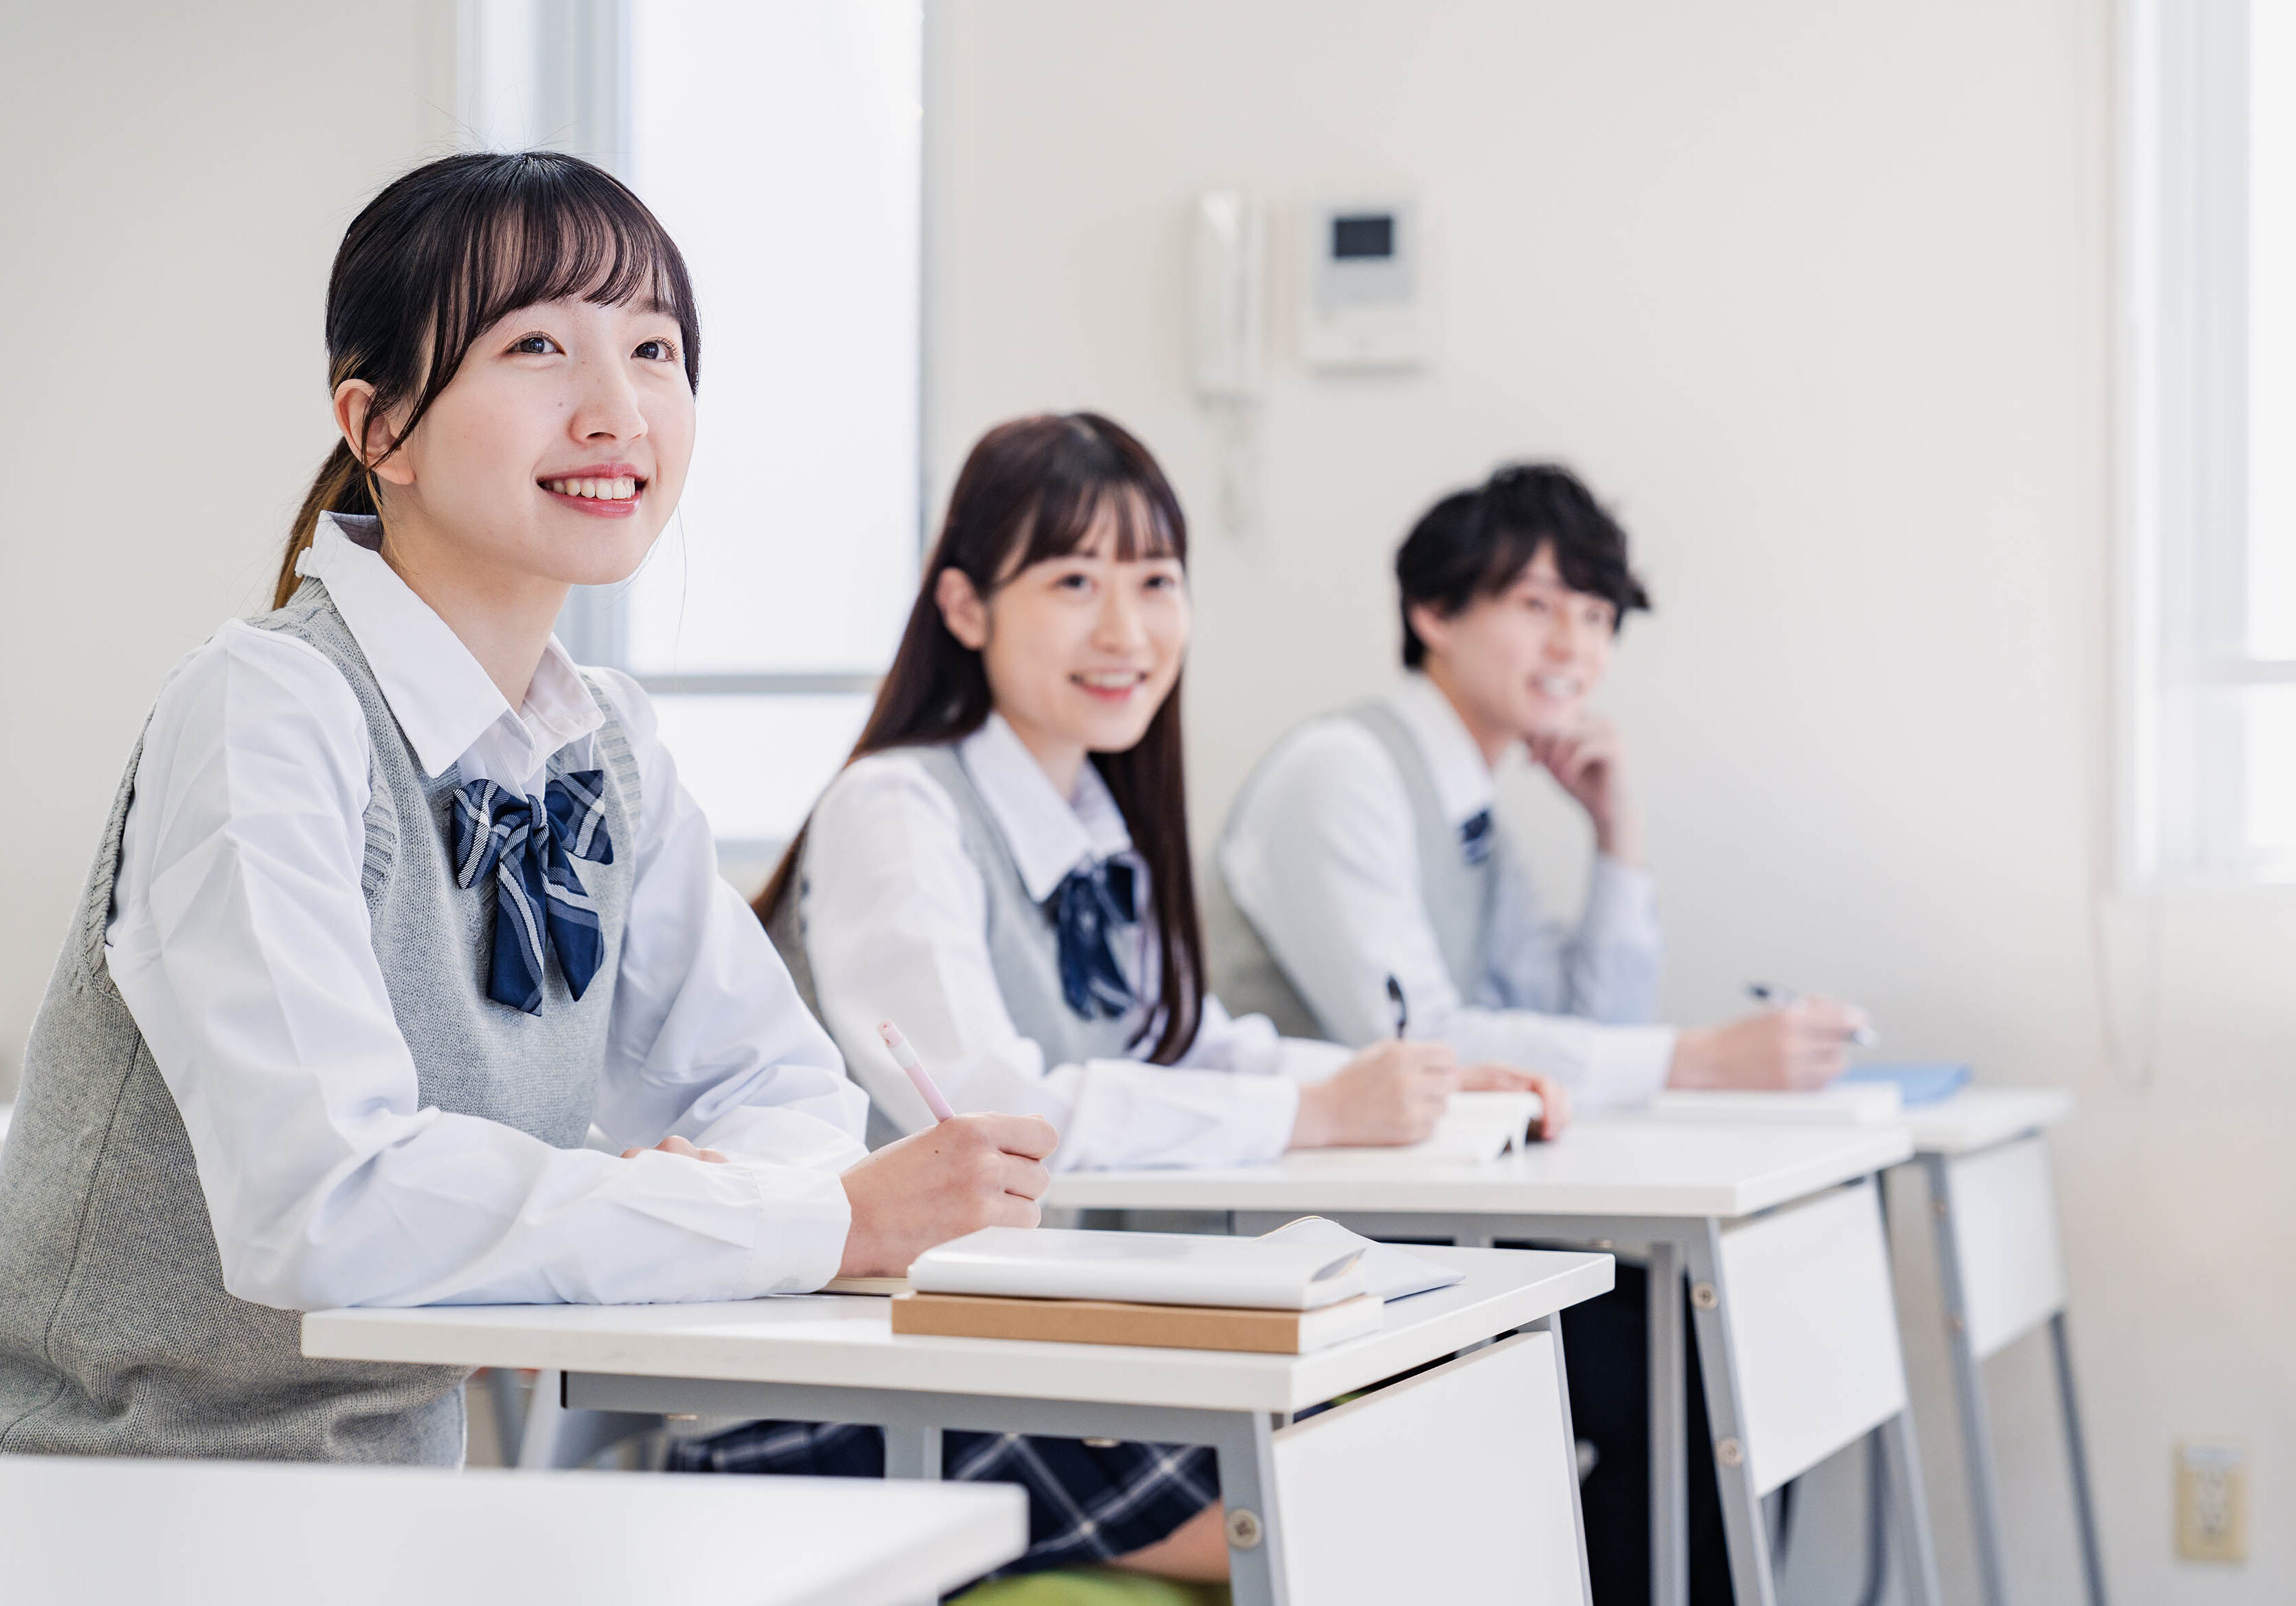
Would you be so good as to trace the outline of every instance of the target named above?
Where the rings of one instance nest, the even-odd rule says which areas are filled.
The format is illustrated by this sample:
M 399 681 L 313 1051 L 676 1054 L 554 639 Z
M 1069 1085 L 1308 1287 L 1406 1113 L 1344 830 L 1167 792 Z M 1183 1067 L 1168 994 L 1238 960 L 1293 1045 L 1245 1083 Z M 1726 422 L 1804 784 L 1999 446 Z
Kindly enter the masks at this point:
M 1970 1087 L 1906 1110 L 1915 1160 L 1929 1179 L 1938 1234 L 1945 1344 L 1954 1358 L 1954 1404 L 1970 1480 L 1977 1578 L 1986 1606 L 2009 1606 L 2000 1477 L 1986 1424 L 1984 1360 L 2048 1323 L 2057 1406 L 2073 1477 L 2073 1516 L 2089 1606 L 2105 1606 L 2105 1569 L 2089 1498 L 2089 1459 L 2064 1326 L 2064 1250 L 2043 1133 L 2073 1112 L 2062 1089 Z

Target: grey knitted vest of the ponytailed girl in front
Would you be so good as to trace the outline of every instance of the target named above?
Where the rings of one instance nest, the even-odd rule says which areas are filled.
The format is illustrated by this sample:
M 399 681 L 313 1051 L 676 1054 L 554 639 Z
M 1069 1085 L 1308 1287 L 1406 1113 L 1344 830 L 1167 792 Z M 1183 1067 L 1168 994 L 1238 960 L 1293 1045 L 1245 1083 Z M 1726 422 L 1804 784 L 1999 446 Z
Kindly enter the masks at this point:
M 581 1146 L 638 857 L 638 770 L 613 705 L 592 687 L 618 848 L 613 864 L 581 866 L 606 944 L 599 986 L 576 1002 L 551 965 L 542 1013 L 526 1016 L 484 990 L 491 889 L 455 885 L 459 770 L 420 772 L 319 581 L 255 623 L 319 648 L 365 710 L 374 797 L 360 885 L 416 1103 Z M 305 1360 L 298 1312 L 223 1289 L 184 1121 L 103 960 L 140 756 L 142 744 L 32 1027 L 0 1151 L 0 1450 L 455 1466 L 459 1367 Z M 551 758 L 551 774 L 565 760 Z

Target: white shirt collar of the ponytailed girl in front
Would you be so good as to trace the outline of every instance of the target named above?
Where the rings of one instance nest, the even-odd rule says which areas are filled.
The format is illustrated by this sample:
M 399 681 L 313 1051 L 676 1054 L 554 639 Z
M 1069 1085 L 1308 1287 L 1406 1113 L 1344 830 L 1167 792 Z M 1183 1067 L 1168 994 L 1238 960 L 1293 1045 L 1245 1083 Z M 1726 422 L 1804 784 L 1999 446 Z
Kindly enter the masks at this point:
M 443 774 L 496 728 L 523 765 L 517 772 L 535 774 L 560 747 L 606 724 L 558 636 L 535 664 L 526 705 L 512 710 L 461 636 L 383 563 L 379 545 L 377 519 L 328 512 L 294 567 L 326 586 L 425 774 Z

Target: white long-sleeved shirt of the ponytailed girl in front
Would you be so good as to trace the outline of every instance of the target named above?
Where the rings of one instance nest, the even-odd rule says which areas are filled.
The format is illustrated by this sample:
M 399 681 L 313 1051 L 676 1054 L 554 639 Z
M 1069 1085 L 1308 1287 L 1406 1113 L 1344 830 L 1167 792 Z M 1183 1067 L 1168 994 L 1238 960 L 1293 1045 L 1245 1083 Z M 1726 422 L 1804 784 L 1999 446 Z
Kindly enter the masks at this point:
M 317 574 L 429 774 L 540 793 L 604 724 L 549 643 L 512 710 L 452 630 L 321 522 Z M 367 721 L 310 643 L 230 623 L 168 675 L 126 818 L 106 960 L 184 1114 L 239 1298 L 287 1310 L 723 1300 L 813 1289 L 852 1225 L 866 1101 L 716 873 L 654 710 L 606 673 L 643 806 L 595 1119 L 728 1165 L 620 1160 L 416 1105 L 360 894 Z M 581 756 L 581 763 L 592 763 Z M 471 894 L 480 896 L 480 894 Z M 464 963 L 466 956 L 452 956 Z

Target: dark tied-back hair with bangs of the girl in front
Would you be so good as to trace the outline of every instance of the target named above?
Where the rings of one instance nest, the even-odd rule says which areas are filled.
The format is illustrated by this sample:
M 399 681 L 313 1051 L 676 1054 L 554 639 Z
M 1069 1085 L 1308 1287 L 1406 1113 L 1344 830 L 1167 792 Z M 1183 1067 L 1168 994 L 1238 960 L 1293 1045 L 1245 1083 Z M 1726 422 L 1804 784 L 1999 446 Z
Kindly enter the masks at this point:
M 377 425 L 402 404 L 397 450 L 455 379 L 471 342 L 505 312 L 581 296 L 645 296 L 677 319 L 687 384 L 700 386 L 703 329 L 687 260 L 620 179 L 560 152 L 471 152 L 393 179 L 351 218 L 326 280 L 326 388 L 374 386 Z M 321 512 L 379 512 L 372 462 L 347 441 L 303 496 L 271 607 L 294 595 L 296 556 Z

